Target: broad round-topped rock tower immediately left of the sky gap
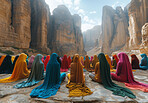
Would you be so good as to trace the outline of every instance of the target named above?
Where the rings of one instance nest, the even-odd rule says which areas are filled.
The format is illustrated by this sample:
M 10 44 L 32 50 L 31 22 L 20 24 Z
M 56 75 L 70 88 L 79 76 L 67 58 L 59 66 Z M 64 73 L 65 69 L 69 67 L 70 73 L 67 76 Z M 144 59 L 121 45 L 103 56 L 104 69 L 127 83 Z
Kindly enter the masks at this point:
M 51 22 L 48 46 L 52 52 L 56 52 L 60 56 L 83 54 L 81 18 L 78 15 L 72 16 L 68 8 L 60 5 L 54 9 Z

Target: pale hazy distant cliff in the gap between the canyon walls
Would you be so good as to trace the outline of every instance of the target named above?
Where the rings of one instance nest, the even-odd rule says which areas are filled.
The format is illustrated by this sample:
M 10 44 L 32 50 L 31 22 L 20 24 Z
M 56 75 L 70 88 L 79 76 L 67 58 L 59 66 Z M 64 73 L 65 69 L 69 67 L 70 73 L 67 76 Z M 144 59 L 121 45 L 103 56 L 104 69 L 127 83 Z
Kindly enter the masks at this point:
M 95 46 L 98 46 L 98 38 L 101 35 L 101 33 L 102 28 L 100 25 L 97 25 L 92 29 L 83 32 L 85 51 L 89 51 L 93 49 Z

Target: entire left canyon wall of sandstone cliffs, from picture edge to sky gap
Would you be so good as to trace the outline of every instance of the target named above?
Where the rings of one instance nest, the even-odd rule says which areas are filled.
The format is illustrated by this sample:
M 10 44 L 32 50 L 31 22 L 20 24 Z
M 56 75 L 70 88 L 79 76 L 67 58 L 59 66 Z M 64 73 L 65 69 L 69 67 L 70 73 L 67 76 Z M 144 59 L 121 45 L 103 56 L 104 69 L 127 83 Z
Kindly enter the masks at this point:
M 50 15 L 45 0 L 1 0 L 0 38 L 0 46 L 85 54 L 81 17 L 62 5 Z

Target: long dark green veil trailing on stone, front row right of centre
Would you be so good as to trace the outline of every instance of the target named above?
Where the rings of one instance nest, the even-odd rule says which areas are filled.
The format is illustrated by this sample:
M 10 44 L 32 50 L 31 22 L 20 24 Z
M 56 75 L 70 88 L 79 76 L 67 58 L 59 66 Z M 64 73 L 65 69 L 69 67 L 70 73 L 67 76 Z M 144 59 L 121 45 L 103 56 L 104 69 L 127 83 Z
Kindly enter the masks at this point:
M 129 89 L 120 87 L 116 85 L 114 82 L 112 82 L 110 76 L 110 66 L 105 58 L 105 55 L 103 53 L 100 53 L 98 55 L 98 58 L 100 62 L 100 76 L 104 88 L 111 90 L 114 95 L 136 98 L 136 96 Z

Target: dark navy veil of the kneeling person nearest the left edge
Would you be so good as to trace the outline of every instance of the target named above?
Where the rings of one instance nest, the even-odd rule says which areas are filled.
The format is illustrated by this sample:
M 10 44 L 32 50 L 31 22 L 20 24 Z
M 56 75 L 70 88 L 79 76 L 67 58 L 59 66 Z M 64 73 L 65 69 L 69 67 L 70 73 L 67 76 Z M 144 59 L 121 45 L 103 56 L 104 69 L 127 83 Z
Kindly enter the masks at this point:
M 12 72 L 11 56 L 7 55 L 0 66 L 0 74 L 11 74 Z

